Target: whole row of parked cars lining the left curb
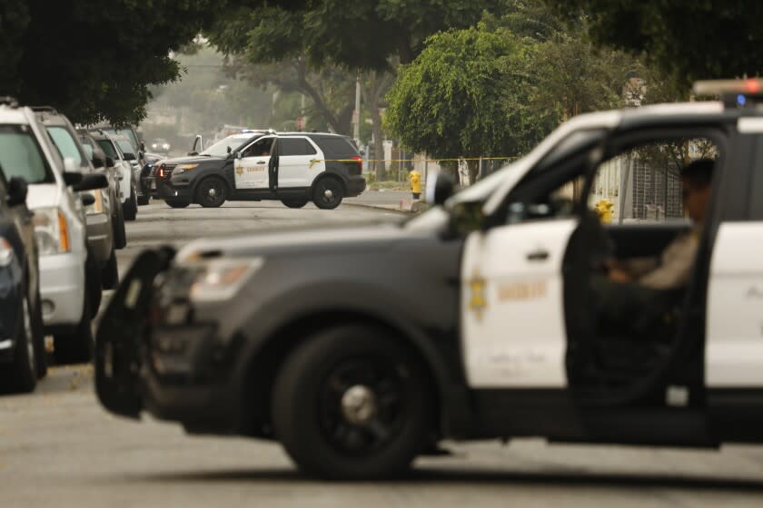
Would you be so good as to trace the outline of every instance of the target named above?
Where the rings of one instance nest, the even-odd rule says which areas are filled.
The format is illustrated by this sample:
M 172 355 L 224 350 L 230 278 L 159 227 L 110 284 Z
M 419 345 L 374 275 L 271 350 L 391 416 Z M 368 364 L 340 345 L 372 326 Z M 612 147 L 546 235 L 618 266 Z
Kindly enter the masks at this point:
M 137 183 L 146 158 L 132 127 L 75 128 L 51 107 L 0 98 L 0 390 L 35 389 L 46 335 L 56 362 L 90 360 L 124 221 L 148 201 Z

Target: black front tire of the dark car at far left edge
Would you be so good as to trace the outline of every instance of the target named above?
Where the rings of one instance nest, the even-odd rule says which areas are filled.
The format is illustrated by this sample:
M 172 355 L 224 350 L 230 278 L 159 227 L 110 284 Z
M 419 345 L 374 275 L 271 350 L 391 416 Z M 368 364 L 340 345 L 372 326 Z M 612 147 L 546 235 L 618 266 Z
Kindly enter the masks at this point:
M 22 295 L 19 312 L 19 326 L 15 332 L 14 361 L 4 372 L 5 386 L 12 393 L 29 393 L 37 386 L 37 355 L 42 354 L 35 347 L 33 335 L 33 309 L 29 304 L 26 291 Z

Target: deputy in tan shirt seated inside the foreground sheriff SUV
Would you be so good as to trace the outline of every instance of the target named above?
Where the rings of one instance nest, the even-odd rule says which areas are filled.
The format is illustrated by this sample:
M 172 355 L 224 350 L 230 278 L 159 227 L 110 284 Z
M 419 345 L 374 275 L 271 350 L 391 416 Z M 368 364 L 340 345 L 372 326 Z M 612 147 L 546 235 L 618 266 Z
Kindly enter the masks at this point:
M 623 333 L 633 337 L 649 333 L 649 327 L 681 301 L 689 284 L 699 237 L 710 198 L 715 161 L 700 159 L 681 171 L 684 210 L 693 220 L 690 231 L 680 234 L 657 259 L 609 260 L 607 275 L 591 280 L 599 336 Z

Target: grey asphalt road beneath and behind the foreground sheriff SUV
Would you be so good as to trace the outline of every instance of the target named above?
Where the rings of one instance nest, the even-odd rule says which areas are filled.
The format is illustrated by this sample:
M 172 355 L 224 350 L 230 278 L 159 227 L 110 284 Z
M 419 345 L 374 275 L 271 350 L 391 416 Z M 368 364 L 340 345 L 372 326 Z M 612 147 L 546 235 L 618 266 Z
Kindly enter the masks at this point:
M 235 203 L 218 210 L 142 207 L 128 225 L 125 269 L 145 246 L 295 224 L 395 220 L 343 205 L 288 210 Z M 107 414 L 90 366 L 54 367 L 29 396 L 0 397 L 0 506 L 759 506 L 763 448 L 721 451 L 448 444 L 387 484 L 324 484 L 298 474 L 278 445 L 189 437 L 173 424 Z

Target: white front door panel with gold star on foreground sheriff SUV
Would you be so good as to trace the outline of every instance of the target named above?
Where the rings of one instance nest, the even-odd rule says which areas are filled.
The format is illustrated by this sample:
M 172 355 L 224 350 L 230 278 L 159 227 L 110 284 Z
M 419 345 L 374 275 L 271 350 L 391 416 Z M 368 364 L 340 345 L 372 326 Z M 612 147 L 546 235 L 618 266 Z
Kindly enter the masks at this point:
M 575 219 L 470 234 L 461 265 L 461 337 L 471 387 L 564 387 L 562 259 Z

